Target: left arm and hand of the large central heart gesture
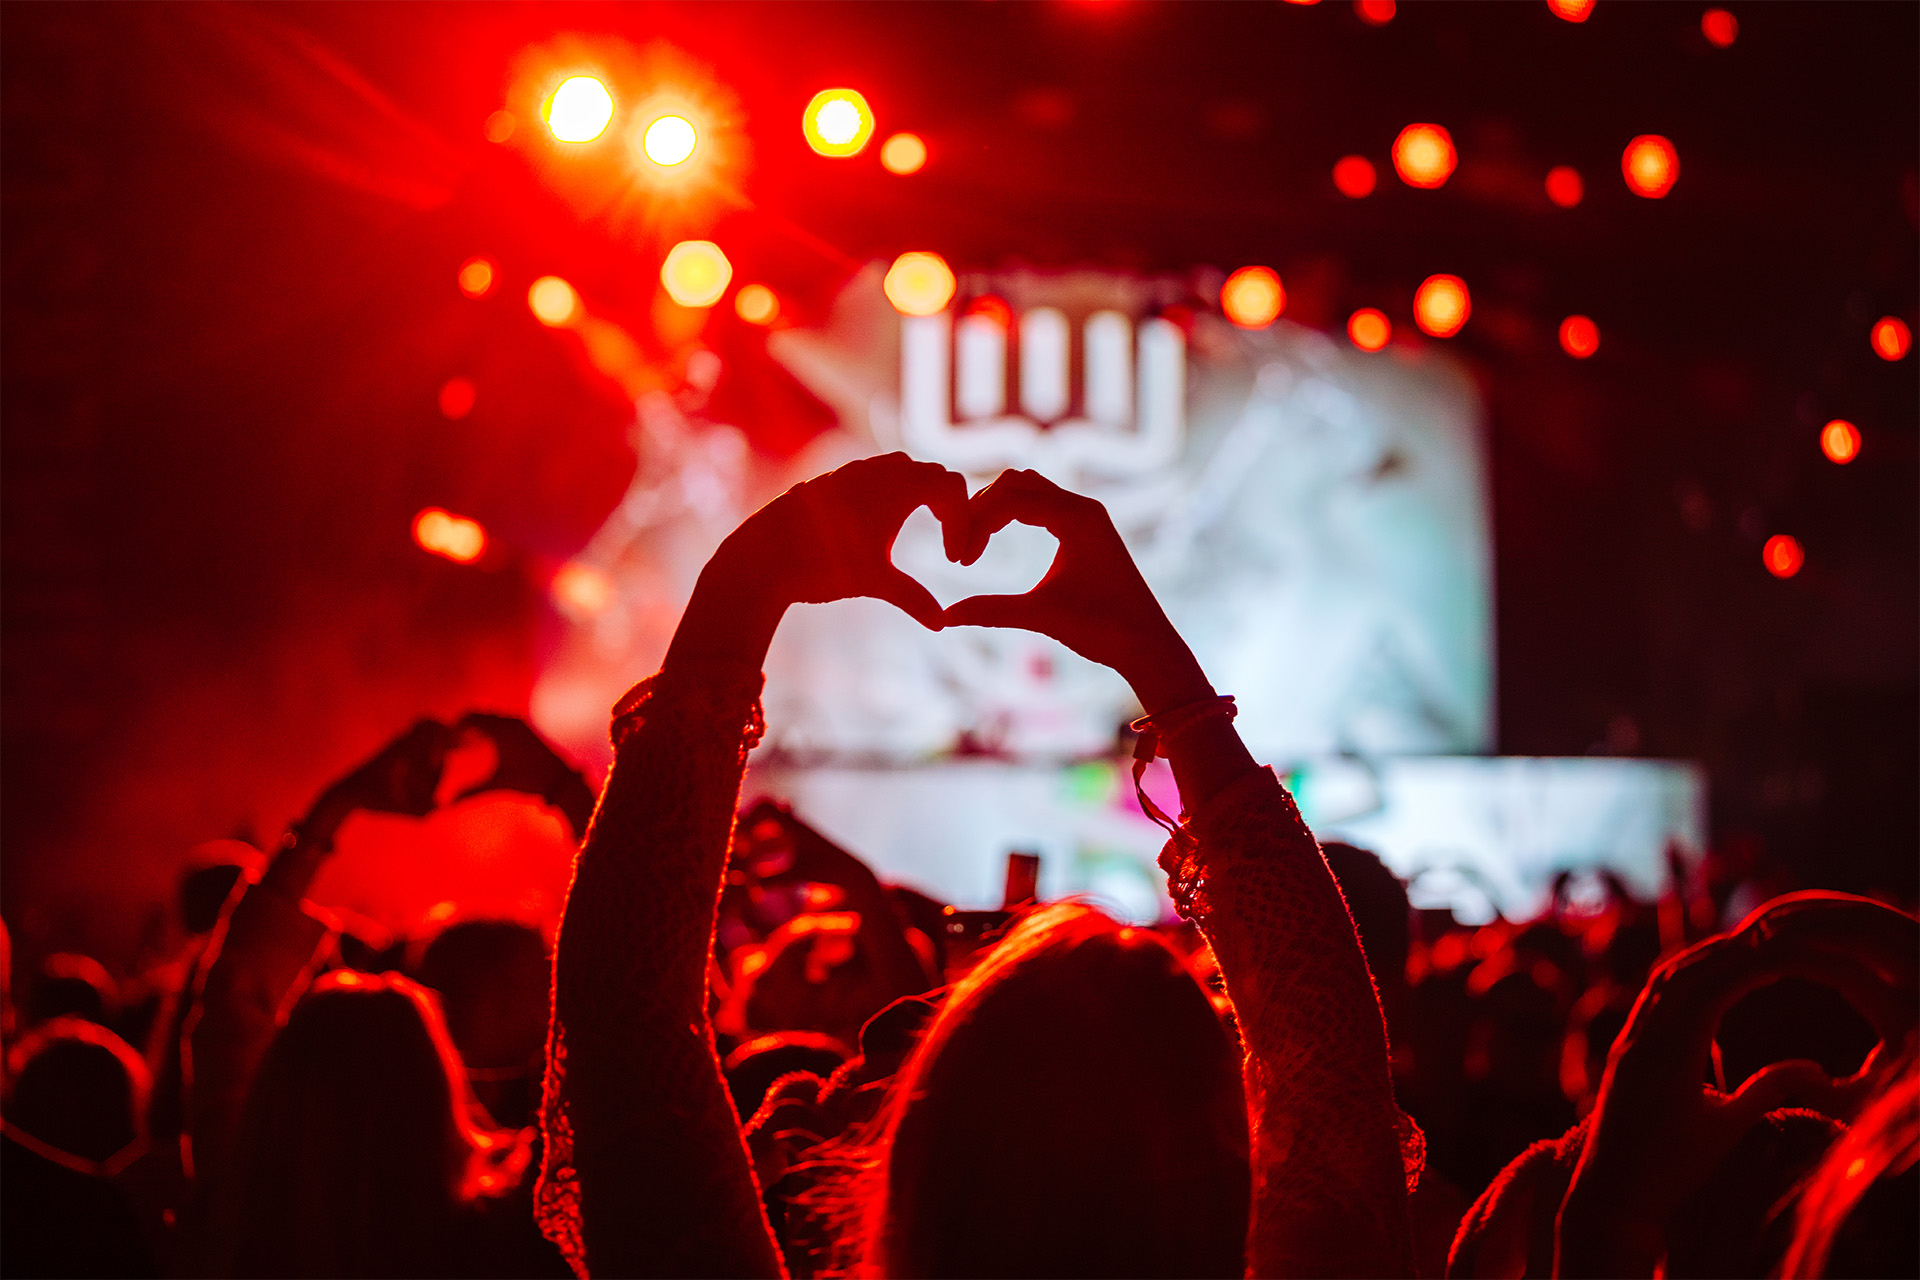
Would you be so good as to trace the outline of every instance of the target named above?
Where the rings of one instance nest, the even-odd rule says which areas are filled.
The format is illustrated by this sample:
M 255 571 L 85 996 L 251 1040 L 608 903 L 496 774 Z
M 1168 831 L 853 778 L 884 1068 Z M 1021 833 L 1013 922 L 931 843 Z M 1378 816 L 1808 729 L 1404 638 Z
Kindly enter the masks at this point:
M 538 1188 L 582 1274 L 781 1272 L 707 1019 L 714 912 L 781 614 L 866 595 L 937 628 L 939 604 L 889 558 L 918 507 L 958 555 L 966 482 L 900 453 L 774 499 L 720 545 L 660 672 L 614 708 L 555 950 Z

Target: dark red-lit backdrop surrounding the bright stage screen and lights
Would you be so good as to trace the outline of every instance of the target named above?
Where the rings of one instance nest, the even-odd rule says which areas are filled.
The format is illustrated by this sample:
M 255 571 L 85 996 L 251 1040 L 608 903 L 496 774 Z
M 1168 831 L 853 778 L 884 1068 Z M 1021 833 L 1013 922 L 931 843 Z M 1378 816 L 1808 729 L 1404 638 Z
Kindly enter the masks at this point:
M 0 8 L 6 921 L 129 958 L 200 839 L 271 841 L 419 714 L 524 708 L 545 576 L 632 474 L 630 403 L 524 307 L 557 273 L 647 330 L 659 257 L 720 240 L 818 319 L 856 263 L 1233 269 L 1338 332 L 1475 290 L 1490 413 L 1500 750 L 1692 758 L 1713 823 L 1805 883 L 1914 894 L 1916 320 L 1910 4 L 276 4 Z M 737 96 L 743 200 L 588 207 L 493 146 L 526 50 L 664 40 Z M 518 61 L 516 61 L 518 59 Z M 518 69 L 518 71 L 516 71 Z M 804 150 L 852 84 L 912 178 Z M 1459 171 L 1398 182 L 1394 134 Z M 522 125 L 522 130 L 526 125 Z M 532 125 L 538 130 L 538 123 Z M 1632 196 L 1626 140 L 1680 152 Z M 877 138 L 876 138 L 877 140 Z M 1332 190 L 1344 154 L 1380 171 Z M 1548 167 L 1586 201 L 1551 207 Z M 490 253 L 503 288 L 453 288 Z M 1567 359 L 1555 326 L 1603 345 Z M 716 309 L 707 340 L 756 334 Z M 674 367 L 664 351 L 660 378 Z M 436 411 L 467 374 L 478 407 Z M 804 416 L 804 413 L 803 413 Z M 1834 466 L 1818 428 L 1862 455 Z M 768 449 L 789 422 L 743 422 Z M 438 503 L 503 549 L 413 547 Z M 1807 547 L 1788 580 L 1770 533 Z M 636 677 L 643 672 L 636 672 Z

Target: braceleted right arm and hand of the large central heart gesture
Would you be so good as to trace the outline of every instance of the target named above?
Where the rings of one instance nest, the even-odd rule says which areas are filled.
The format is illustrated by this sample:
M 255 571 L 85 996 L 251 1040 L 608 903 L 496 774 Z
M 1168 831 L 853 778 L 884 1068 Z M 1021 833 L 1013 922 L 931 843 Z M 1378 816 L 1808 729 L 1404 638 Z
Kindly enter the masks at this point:
M 973 497 L 972 562 L 1018 520 L 1060 539 L 1025 595 L 973 597 L 948 626 L 1052 635 L 1119 672 L 1167 725 L 1187 821 L 1167 844 L 1175 902 L 1206 933 L 1246 1046 L 1254 1163 L 1248 1272 L 1411 1274 L 1386 1032 L 1346 902 L 1313 835 L 1258 768 L 1100 503 L 1033 472 Z

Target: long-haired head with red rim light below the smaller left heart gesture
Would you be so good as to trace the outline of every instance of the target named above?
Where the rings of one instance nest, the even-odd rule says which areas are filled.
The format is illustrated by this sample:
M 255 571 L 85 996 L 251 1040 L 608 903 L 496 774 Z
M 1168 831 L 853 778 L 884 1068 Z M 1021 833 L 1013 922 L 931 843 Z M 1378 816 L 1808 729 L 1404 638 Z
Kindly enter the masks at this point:
M 397 973 L 330 973 L 253 1079 L 204 1267 L 438 1274 L 486 1146 L 432 994 Z

